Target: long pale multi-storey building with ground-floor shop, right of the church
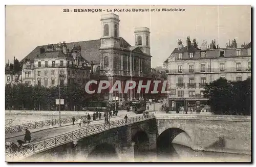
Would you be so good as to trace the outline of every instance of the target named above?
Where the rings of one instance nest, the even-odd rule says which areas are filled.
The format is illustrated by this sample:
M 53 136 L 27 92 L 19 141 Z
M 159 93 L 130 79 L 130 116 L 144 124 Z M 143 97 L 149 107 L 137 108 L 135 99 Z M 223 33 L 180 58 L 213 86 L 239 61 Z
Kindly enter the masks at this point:
M 196 112 L 200 103 L 201 111 L 207 111 L 207 100 L 203 98 L 205 83 L 220 77 L 231 81 L 245 80 L 251 77 L 251 48 L 237 47 L 236 40 L 219 48 L 216 42 L 209 45 L 203 42 L 198 48 L 196 40 L 191 44 L 187 37 L 187 46 L 178 41 L 168 58 L 167 80 L 170 110 L 178 112 L 181 108 L 188 113 Z

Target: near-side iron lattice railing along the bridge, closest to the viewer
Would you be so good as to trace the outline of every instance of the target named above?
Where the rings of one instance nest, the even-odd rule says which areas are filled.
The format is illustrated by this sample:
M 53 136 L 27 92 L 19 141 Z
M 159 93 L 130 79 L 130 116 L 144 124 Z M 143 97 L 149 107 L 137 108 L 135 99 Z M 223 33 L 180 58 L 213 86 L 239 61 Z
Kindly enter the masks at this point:
M 83 138 L 92 134 L 96 134 L 96 133 L 99 133 L 108 129 L 116 128 L 116 127 L 129 125 L 131 123 L 150 120 L 153 118 L 155 118 L 155 115 L 149 114 L 148 117 L 137 116 L 137 117 L 128 118 L 127 121 L 122 119 L 122 120 L 110 122 L 109 124 L 104 124 L 104 123 L 98 124 L 98 125 L 82 128 L 79 130 L 75 130 L 69 133 L 57 135 L 55 137 L 50 137 L 42 141 L 33 142 L 24 147 L 19 147 L 14 151 L 7 151 L 5 155 L 6 155 L 6 158 L 10 158 L 12 161 L 20 160 L 22 158 L 31 156 L 33 154 L 45 151 L 47 149 L 50 149 L 59 145 L 72 142 L 74 140 L 78 140 L 80 138 Z

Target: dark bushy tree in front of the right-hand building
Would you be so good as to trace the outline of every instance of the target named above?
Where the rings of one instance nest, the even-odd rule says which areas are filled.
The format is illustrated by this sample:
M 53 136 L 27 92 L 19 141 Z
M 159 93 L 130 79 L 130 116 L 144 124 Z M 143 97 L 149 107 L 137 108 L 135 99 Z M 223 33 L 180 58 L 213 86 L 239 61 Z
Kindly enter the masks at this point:
M 206 84 L 205 97 L 215 114 L 250 115 L 251 114 L 251 81 L 227 81 L 218 79 Z

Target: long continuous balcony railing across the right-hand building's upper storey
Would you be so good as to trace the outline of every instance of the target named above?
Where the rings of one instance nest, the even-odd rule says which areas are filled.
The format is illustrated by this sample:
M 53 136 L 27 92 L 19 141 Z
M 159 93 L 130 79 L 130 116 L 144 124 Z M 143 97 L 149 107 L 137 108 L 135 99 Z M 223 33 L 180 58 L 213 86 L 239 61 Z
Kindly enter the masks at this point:
M 227 73 L 227 72 L 249 72 L 251 71 L 250 68 L 195 68 L 192 69 L 182 69 L 182 70 L 166 70 L 167 74 L 178 74 L 178 73 Z

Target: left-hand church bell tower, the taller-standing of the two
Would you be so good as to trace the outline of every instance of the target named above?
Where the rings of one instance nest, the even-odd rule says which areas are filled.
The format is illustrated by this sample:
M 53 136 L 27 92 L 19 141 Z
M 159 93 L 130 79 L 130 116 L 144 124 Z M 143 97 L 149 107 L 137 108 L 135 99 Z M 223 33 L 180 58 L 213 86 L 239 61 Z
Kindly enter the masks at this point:
M 120 47 L 119 45 L 119 16 L 116 14 L 101 15 L 101 45 L 100 48 Z

